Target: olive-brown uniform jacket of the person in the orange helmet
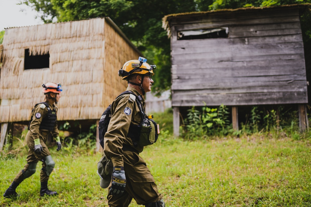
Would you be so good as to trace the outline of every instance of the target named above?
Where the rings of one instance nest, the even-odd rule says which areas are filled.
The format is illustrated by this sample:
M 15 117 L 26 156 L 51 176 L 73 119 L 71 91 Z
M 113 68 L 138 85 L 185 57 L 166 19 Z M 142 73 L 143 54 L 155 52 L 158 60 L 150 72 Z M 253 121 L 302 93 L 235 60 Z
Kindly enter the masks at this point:
M 47 102 L 49 104 L 49 107 L 50 109 L 53 111 L 53 109 L 55 108 L 55 111 L 56 111 L 56 114 L 57 114 L 57 106 L 55 104 L 51 105 L 49 102 Z M 40 114 L 40 117 L 37 115 L 37 118 L 36 117 L 36 114 Z M 30 123 L 30 135 L 29 136 L 29 141 L 34 141 L 35 139 L 39 139 L 39 131 L 46 131 L 46 132 L 49 132 L 49 130 L 43 130 L 43 129 L 40 129 L 39 130 L 39 127 L 40 127 L 40 124 L 41 124 L 41 121 L 42 119 L 48 114 L 48 109 L 47 107 L 44 105 L 44 104 L 38 104 L 35 109 L 33 110 L 33 112 L 31 113 L 31 116 L 32 116 L 32 121 Z M 54 126 L 54 129 L 53 131 L 51 131 L 52 133 L 52 136 L 53 137 L 57 137 L 58 136 L 58 128 L 57 128 L 57 123 L 55 123 L 55 126 Z M 46 140 L 44 140 L 45 142 Z

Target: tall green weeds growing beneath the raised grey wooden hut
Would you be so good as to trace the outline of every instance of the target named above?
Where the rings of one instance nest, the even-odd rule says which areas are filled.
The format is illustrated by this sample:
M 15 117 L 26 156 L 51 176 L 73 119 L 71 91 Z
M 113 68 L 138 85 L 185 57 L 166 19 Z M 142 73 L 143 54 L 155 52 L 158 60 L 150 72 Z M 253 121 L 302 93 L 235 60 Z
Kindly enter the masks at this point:
M 253 106 L 245 116 L 245 122 L 235 131 L 230 124 L 230 112 L 224 105 L 218 108 L 192 107 L 185 119 L 183 136 L 189 140 L 204 139 L 207 136 L 240 136 L 253 133 L 272 133 L 275 137 L 286 136 L 299 140 L 308 133 L 299 133 L 298 112 L 292 108 L 284 111 L 283 106 L 270 109 Z

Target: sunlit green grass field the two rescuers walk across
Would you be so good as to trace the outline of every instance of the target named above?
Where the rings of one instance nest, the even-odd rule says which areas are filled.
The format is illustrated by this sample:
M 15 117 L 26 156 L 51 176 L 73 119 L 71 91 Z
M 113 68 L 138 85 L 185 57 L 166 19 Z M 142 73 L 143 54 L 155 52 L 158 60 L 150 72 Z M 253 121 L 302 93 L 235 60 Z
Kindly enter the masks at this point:
M 168 136 L 169 137 L 169 136 Z M 189 142 L 160 140 L 141 153 L 165 206 L 311 206 L 311 140 L 253 135 Z M 101 155 L 56 152 L 49 188 L 40 197 L 39 171 L 17 188 L 20 197 L 2 194 L 26 164 L 26 156 L 0 159 L 1 206 L 108 206 L 107 190 L 96 173 Z M 133 200 L 130 206 L 138 206 Z

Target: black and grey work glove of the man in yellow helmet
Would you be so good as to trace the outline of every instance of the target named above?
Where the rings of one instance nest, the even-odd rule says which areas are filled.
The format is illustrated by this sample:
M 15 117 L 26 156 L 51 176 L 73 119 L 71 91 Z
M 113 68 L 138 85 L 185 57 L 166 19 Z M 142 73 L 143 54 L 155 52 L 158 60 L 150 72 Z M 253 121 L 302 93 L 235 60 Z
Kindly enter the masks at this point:
M 125 189 L 125 173 L 123 167 L 114 167 L 114 171 L 112 172 L 112 184 L 110 191 L 111 195 L 122 195 Z

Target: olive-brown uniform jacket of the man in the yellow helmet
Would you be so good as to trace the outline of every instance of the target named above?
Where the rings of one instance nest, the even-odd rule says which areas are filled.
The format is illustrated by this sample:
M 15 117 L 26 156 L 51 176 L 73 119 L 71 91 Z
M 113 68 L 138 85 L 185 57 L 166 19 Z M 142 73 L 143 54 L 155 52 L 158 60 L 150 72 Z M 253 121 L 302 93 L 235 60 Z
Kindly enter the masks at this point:
M 139 92 L 128 87 L 127 91 L 131 91 L 139 96 Z M 145 100 L 142 100 L 145 107 Z M 133 147 L 138 152 L 142 152 L 144 147 L 134 146 L 130 137 L 127 137 L 128 129 L 131 123 L 140 124 L 142 115 L 139 114 L 139 108 L 135 101 L 135 96 L 125 94 L 118 97 L 111 104 L 111 119 L 108 130 L 104 137 L 104 153 L 109 160 L 112 160 L 114 166 L 123 166 L 123 144 Z

